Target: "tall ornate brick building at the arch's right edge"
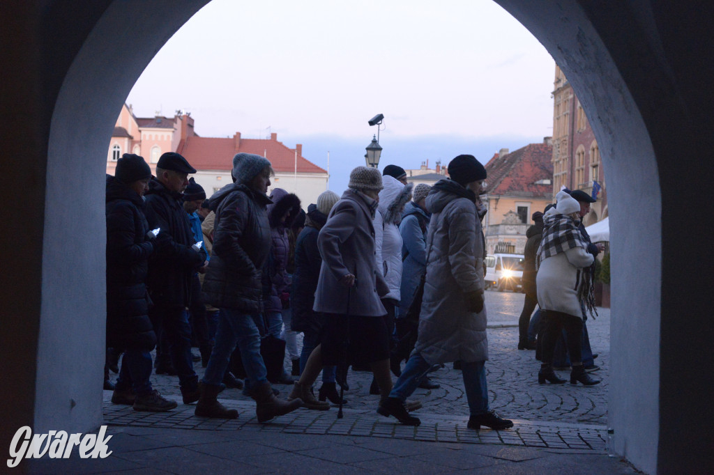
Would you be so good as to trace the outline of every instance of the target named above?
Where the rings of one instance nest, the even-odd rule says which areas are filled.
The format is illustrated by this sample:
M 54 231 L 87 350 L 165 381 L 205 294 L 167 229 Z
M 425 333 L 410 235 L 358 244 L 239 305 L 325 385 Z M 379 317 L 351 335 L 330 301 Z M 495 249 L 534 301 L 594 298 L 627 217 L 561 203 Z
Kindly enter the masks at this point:
M 583 106 L 578 101 L 565 74 L 555 66 L 553 88 L 553 195 L 565 186 L 570 190 L 593 193 L 600 185 L 598 201 L 585 216 L 586 226 L 608 216 L 608 192 L 600 148 Z

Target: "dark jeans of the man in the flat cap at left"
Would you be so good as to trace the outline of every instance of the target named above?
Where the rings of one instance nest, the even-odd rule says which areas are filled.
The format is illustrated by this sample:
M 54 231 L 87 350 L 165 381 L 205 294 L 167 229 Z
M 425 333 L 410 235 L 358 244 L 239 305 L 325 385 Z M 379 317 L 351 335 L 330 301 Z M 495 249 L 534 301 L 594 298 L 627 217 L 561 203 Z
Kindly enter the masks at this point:
M 154 324 L 159 342 L 163 339 L 168 344 L 181 392 L 194 391 L 198 385 L 198 375 L 193 371 L 191 325 L 188 325 L 186 312 L 181 307 L 154 305 L 149 310 L 149 318 Z M 162 352 L 161 356 L 165 358 L 166 354 Z

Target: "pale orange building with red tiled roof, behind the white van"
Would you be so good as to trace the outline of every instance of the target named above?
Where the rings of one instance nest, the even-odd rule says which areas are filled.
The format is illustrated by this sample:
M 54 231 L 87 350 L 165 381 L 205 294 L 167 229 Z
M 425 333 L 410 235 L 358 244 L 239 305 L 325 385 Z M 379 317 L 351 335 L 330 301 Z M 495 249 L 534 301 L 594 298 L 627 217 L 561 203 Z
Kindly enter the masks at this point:
M 531 215 L 553 201 L 553 147 L 550 137 L 509 152 L 502 148 L 486 163 L 488 208 L 483 220 L 486 252 L 523 253 Z

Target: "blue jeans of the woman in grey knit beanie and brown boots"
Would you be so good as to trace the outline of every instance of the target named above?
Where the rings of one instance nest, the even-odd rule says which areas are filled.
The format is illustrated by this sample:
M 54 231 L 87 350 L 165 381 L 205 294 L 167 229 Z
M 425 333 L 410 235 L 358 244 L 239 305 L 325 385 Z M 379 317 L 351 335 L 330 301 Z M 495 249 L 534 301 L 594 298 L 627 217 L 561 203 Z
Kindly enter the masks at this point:
M 203 383 L 213 386 L 221 384 L 236 344 L 246 369 L 246 387 L 250 384 L 250 387 L 254 388 L 268 381 L 266 366 L 261 356 L 261 334 L 258 330 L 258 327 L 263 326 L 263 317 L 260 314 L 248 315 L 229 308 L 222 308 L 218 313 L 220 317 L 216 344 L 213 345 Z

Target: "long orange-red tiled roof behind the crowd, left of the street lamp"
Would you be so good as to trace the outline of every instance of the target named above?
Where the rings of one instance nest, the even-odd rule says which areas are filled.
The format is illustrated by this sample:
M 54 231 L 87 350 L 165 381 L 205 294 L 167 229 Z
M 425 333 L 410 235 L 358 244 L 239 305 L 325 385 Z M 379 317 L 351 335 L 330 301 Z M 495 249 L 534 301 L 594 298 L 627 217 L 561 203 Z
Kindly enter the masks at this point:
M 238 147 L 236 148 L 236 142 Z M 187 137 L 178 144 L 181 153 L 188 163 L 196 170 L 231 170 L 233 155 L 236 153 L 255 153 L 265 156 L 276 172 L 293 172 L 295 170 L 295 149 L 288 148 L 282 142 L 271 139 L 256 138 L 214 138 Z M 327 173 L 298 153 L 298 172 Z

